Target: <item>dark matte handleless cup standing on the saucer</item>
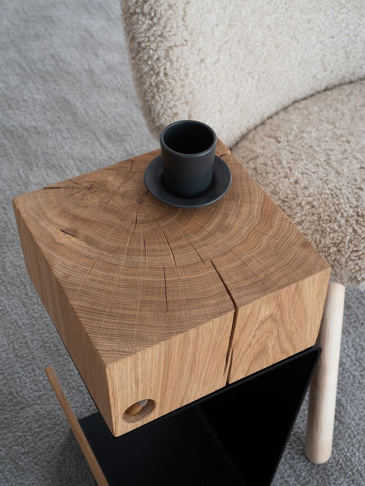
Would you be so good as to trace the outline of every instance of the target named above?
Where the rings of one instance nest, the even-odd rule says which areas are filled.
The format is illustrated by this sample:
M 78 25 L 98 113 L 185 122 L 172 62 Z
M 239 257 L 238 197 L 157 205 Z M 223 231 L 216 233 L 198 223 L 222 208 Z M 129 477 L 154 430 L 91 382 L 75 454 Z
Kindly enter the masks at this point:
M 166 188 L 183 198 L 197 197 L 213 177 L 217 136 L 201 121 L 171 123 L 160 135 L 163 179 Z

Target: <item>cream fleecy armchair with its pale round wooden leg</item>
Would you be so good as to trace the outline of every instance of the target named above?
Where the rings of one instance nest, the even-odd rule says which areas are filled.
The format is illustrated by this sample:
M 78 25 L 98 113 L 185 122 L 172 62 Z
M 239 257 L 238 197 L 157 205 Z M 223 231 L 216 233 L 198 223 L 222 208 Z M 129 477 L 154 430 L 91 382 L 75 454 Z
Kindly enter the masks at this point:
M 331 455 L 345 285 L 365 290 L 365 2 L 122 0 L 156 135 L 211 125 L 331 265 L 306 454 Z

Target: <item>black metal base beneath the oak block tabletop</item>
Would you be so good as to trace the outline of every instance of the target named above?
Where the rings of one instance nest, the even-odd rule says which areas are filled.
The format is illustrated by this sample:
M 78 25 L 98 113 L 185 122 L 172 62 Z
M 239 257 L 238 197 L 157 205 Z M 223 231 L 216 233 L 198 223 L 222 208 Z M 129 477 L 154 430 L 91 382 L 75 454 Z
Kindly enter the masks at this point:
M 320 355 L 317 345 L 114 438 L 79 421 L 110 486 L 261 486 L 274 477 Z

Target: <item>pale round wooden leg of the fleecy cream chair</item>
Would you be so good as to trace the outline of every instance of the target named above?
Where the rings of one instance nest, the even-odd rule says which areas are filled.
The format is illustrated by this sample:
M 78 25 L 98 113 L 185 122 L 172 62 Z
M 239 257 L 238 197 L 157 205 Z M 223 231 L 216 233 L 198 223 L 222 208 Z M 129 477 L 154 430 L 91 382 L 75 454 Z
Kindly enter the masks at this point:
M 330 283 L 317 342 L 322 354 L 309 389 L 305 453 L 322 464 L 331 456 L 345 287 Z

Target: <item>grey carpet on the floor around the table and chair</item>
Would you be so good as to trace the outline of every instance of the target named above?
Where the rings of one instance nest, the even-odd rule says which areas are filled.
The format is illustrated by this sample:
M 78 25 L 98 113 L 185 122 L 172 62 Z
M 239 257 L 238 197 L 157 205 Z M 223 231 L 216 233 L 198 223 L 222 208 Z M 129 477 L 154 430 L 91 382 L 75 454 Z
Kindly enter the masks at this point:
M 117 0 L 0 6 L 0 485 L 92 485 L 44 367 L 76 414 L 93 404 L 26 274 L 11 198 L 158 143 L 138 108 Z M 349 290 L 333 456 L 305 459 L 304 406 L 276 486 L 365 484 L 364 323 L 365 295 Z

